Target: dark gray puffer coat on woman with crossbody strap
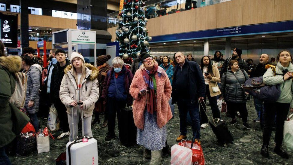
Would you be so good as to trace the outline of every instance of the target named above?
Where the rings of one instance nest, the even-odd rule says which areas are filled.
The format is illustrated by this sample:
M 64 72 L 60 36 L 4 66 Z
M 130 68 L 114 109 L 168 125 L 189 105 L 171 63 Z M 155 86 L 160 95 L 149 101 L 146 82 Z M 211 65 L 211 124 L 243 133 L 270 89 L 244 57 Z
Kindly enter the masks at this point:
M 226 78 L 225 78 L 226 77 Z M 236 77 L 240 81 L 240 84 L 243 85 L 244 82 L 249 78 L 247 72 L 243 69 L 238 69 L 236 71 Z M 221 78 L 221 96 L 224 95 L 225 101 L 243 103 L 246 102 L 244 98 L 243 89 L 234 76 L 234 72 L 228 70 L 222 75 Z

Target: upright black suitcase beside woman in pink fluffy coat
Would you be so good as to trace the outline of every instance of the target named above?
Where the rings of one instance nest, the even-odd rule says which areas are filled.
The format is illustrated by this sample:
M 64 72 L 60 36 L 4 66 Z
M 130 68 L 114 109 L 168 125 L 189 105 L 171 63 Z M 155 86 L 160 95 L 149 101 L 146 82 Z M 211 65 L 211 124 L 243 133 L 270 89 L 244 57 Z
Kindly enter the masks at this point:
M 122 145 L 131 146 L 136 144 L 137 129 L 134 125 L 132 106 L 121 109 L 118 130 Z

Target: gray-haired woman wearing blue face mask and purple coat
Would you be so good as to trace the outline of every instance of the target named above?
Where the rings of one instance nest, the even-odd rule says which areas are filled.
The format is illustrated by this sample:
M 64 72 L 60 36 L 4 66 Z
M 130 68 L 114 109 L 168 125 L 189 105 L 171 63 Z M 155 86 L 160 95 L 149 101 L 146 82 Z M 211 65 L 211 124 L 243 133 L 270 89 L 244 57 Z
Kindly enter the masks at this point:
M 125 108 L 126 104 L 132 104 L 132 97 L 129 94 L 129 87 L 133 75 L 131 71 L 127 69 L 123 64 L 124 62 L 120 57 L 115 57 L 112 60 L 113 68 L 108 71 L 103 84 L 102 99 L 104 99 L 104 102 L 106 104 L 105 113 L 108 113 L 108 133 L 105 137 L 106 141 L 109 141 L 116 137 L 116 112 L 119 124 L 120 109 Z

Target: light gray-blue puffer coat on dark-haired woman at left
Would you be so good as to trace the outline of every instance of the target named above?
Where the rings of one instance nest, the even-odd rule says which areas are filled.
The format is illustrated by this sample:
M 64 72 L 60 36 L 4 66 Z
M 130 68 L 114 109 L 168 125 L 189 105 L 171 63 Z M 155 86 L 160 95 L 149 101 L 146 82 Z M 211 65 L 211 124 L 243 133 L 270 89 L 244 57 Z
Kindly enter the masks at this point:
M 26 103 L 24 107 L 29 111 L 29 114 L 35 114 L 39 110 L 40 104 L 40 78 L 42 74 L 42 67 L 38 64 L 32 65 L 26 72 L 28 75 L 28 82 L 26 88 Z M 34 106 L 29 108 L 29 100 L 34 101 Z

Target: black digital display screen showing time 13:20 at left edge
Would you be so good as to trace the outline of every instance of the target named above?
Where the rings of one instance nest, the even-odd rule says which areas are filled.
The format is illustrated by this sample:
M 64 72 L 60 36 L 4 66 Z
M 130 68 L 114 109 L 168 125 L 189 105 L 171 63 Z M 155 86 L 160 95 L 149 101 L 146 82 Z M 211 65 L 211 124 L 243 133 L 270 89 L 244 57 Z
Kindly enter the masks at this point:
M 17 14 L 0 13 L 0 38 L 5 47 L 17 47 Z

